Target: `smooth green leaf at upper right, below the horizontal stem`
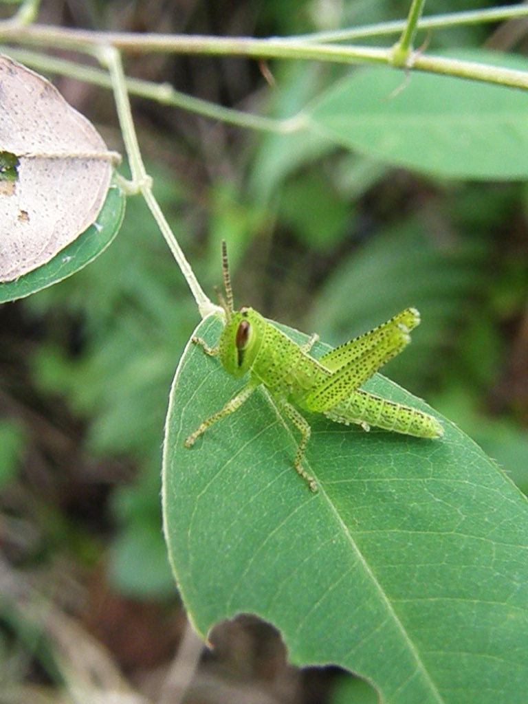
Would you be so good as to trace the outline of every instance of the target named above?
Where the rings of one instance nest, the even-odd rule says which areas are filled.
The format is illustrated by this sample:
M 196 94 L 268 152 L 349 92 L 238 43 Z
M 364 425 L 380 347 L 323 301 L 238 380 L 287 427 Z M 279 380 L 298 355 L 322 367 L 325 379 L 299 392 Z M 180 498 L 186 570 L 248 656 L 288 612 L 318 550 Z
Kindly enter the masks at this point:
M 528 70 L 520 56 L 474 51 L 461 58 Z M 460 179 L 528 176 L 528 97 L 522 90 L 365 68 L 348 75 L 307 115 L 326 137 L 394 165 Z

